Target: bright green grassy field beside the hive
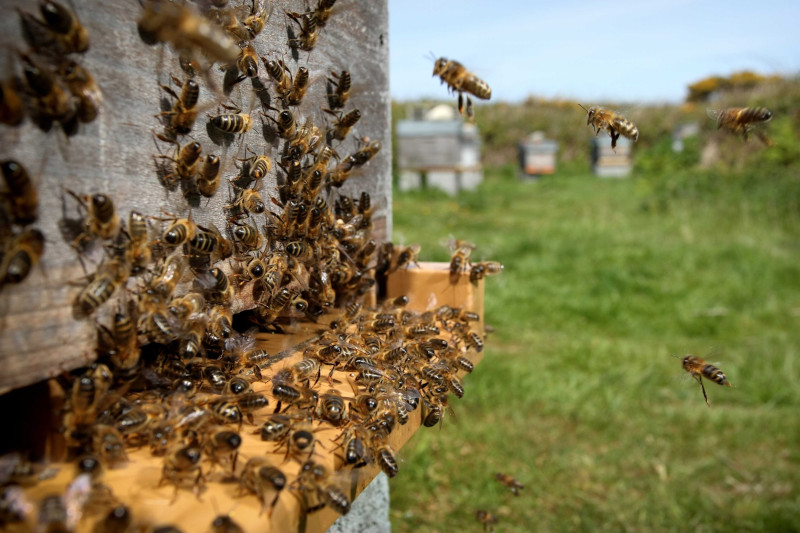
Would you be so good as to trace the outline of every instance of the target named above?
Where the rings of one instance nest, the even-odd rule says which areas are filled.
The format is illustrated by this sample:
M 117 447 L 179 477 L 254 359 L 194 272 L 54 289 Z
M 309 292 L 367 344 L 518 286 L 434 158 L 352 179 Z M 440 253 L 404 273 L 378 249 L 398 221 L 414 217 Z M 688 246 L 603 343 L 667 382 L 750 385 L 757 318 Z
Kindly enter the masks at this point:
M 477 509 L 498 532 L 800 530 L 799 183 L 506 168 L 456 198 L 396 192 L 396 243 L 448 260 L 467 239 L 505 271 L 455 417 L 400 453 L 394 531 L 482 531 Z M 686 353 L 735 385 L 708 383 L 710 409 Z

